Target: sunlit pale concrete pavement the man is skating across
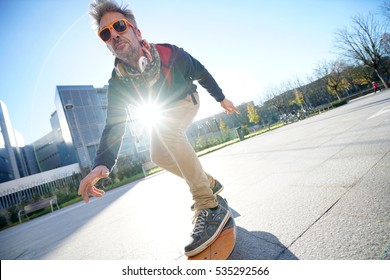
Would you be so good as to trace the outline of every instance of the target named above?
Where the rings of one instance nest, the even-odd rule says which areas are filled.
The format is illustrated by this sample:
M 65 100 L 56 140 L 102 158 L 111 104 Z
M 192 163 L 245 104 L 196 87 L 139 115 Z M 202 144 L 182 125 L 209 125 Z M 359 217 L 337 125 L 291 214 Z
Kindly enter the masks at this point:
M 235 216 L 231 259 L 390 259 L 390 90 L 201 161 Z M 184 259 L 191 204 L 162 172 L 1 231 L 0 258 Z

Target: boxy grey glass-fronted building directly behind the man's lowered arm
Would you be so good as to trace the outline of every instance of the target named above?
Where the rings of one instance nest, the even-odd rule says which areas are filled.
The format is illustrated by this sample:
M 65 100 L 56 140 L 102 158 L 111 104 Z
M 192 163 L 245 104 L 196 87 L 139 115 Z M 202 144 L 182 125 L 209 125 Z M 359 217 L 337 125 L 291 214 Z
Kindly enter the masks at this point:
M 107 89 L 90 85 L 57 86 L 55 104 L 58 123 L 65 144 L 72 144 L 82 169 L 91 169 L 107 111 Z M 145 137 L 138 137 L 130 121 L 126 129 L 120 156 L 132 155 L 137 160 L 149 150 Z M 142 140 L 140 140 L 142 139 Z

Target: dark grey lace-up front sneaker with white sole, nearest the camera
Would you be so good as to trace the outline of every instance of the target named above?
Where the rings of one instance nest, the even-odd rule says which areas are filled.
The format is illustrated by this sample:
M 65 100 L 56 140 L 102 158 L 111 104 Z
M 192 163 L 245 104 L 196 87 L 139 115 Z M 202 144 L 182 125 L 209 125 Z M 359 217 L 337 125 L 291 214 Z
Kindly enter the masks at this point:
M 230 211 L 218 205 L 216 209 L 199 210 L 195 215 L 196 222 L 191 240 L 184 248 L 187 257 L 199 254 L 214 242 L 229 220 Z

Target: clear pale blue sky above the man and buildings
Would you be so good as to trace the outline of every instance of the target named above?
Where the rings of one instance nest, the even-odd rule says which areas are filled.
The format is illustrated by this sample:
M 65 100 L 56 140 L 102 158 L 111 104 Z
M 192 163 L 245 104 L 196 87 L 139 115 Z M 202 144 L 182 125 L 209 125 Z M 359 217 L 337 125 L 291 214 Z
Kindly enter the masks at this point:
M 261 100 L 272 85 L 307 81 L 320 61 L 338 57 L 335 31 L 353 16 L 377 13 L 383 0 L 123 2 L 146 40 L 184 48 L 239 105 Z M 57 85 L 103 87 L 110 78 L 114 57 L 96 35 L 89 3 L 0 2 L 0 100 L 26 144 L 51 131 Z M 197 119 L 222 111 L 206 91 L 199 93 Z

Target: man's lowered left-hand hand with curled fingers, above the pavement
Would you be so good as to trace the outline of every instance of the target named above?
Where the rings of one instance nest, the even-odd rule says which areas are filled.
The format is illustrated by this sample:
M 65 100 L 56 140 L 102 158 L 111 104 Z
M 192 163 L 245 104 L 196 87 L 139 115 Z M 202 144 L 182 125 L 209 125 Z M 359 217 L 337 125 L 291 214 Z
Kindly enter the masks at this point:
M 84 179 L 81 180 L 78 194 L 83 197 L 85 203 L 89 202 L 89 195 L 102 197 L 105 192 L 95 187 L 102 178 L 107 178 L 110 171 L 104 165 L 96 166 Z

